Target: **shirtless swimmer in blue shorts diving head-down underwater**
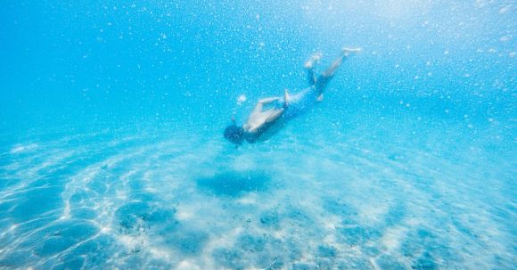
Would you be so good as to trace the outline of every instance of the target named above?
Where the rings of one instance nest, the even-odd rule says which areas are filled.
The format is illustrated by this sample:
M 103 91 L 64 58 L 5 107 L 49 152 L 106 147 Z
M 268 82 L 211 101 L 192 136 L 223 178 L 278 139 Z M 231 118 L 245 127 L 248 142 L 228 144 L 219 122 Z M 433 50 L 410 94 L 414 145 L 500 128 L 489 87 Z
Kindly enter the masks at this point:
M 290 94 L 286 89 L 283 97 L 259 100 L 242 127 L 237 126 L 232 117 L 232 125 L 225 129 L 226 140 L 234 143 L 235 147 L 241 145 L 244 140 L 248 143 L 255 143 L 270 127 L 278 125 L 280 119 L 292 119 L 312 108 L 316 102 L 323 101 L 324 88 L 341 66 L 343 59 L 349 57 L 351 53 L 359 53 L 361 50 L 360 48 L 343 48 L 341 55 L 318 78 L 316 78 L 314 67 L 320 61 L 322 54 L 312 54 L 304 64 L 304 68 L 308 71 L 309 87 L 297 94 Z

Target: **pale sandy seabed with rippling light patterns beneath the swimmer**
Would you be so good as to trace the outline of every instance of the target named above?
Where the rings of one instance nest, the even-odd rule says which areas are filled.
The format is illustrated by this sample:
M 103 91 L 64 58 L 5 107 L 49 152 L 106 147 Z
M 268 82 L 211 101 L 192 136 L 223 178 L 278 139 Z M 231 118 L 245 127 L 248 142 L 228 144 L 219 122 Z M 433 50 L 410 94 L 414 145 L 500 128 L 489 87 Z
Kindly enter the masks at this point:
M 24 135 L 0 154 L 0 268 L 515 269 L 513 143 L 392 122 L 238 150 L 219 131 Z

